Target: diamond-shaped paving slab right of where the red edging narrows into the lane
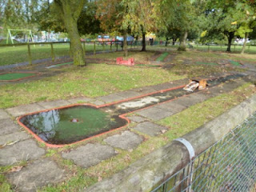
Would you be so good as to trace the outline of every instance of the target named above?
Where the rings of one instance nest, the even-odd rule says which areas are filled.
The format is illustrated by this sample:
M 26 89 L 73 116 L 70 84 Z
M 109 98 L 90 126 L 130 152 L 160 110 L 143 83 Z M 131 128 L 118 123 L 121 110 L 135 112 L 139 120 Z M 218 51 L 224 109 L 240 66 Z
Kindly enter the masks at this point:
M 147 108 L 145 110 L 139 110 L 136 112 L 136 114 L 140 114 L 145 118 L 153 119 L 154 121 L 158 121 L 162 118 L 169 117 L 173 113 L 167 110 L 162 110 L 158 107 L 152 106 L 150 108 Z

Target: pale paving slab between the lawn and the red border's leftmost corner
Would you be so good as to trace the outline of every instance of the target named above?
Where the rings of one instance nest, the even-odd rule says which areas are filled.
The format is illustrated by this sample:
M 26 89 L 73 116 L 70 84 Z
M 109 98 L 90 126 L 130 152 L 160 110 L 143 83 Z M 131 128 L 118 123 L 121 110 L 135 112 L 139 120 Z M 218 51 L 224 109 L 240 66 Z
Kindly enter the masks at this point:
M 23 114 L 33 113 L 38 110 L 45 110 L 45 108 L 34 103 L 34 104 L 26 105 L 26 106 L 15 106 L 13 108 L 6 109 L 6 111 L 8 111 L 8 113 L 14 117 L 18 117 Z

